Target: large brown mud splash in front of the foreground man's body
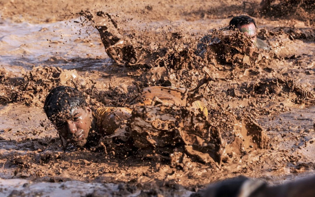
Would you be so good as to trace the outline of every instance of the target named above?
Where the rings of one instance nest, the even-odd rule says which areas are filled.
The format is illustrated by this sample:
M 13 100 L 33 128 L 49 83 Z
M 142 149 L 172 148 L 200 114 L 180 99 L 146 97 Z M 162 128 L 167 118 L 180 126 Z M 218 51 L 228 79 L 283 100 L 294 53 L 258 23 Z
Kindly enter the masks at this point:
M 117 132 L 121 136 L 111 138 L 130 133 L 129 140 L 139 148 L 138 156 L 170 161 L 172 167 L 180 166 L 184 171 L 192 169 L 196 161 L 219 166 L 222 161 L 231 163 L 250 148 L 266 147 L 268 137 L 250 117 L 242 123 L 232 114 L 222 116 L 232 123 L 228 125 L 233 127 L 229 144 L 221 136 L 223 125 L 207 121 L 203 113 L 163 105 L 136 106 L 126 126 Z

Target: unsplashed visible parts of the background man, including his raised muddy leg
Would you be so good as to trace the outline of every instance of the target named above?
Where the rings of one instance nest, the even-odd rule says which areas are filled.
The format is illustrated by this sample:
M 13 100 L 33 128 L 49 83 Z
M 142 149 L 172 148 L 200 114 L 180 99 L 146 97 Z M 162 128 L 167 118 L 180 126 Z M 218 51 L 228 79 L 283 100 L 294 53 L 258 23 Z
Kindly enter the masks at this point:
M 165 65 L 165 62 L 161 63 L 161 59 L 166 58 L 165 61 L 168 62 L 169 60 L 167 58 L 174 59 L 174 57 L 181 56 L 181 54 L 186 54 L 186 51 L 190 48 L 185 47 L 181 49 L 181 51 L 177 51 L 177 49 L 171 49 L 170 51 L 172 52 L 168 52 L 166 54 L 164 54 L 165 52 L 163 52 L 163 50 L 151 51 L 151 49 L 144 49 L 142 43 L 140 43 L 140 46 L 138 46 L 136 41 L 131 40 L 131 38 L 128 36 L 123 36 L 120 33 L 117 23 L 112 19 L 110 14 L 104 13 L 102 11 L 93 13 L 86 10 L 82 11 L 80 15 L 83 16 L 87 21 L 90 20 L 92 25 L 99 31 L 100 38 L 105 47 L 107 55 L 111 57 L 118 65 L 138 67 L 152 67 L 152 65 L 156 64 Z M 230 21 L 230 25 L 221 30 L 238 30 L 251 38 L 257 48 L 265 50 L 270 49 L 266 43 L 256 38 L 255 21 L 248 16 L 234 17 Z M 229 32 L 226 34 L 229 35 Z M 224 50 L 222 49 L 222 45 L 220 46 L 219 43 L 220 38 L 213 37 L 212 35 L 206 35 L 198 44 L 195 54 L 206 58 L 205 51 L 209 47 L 213 48 L 214 54 L 216 51 L 220 52 Z M 167 64 L 168 63 L 166 63 L 166 65 Z

